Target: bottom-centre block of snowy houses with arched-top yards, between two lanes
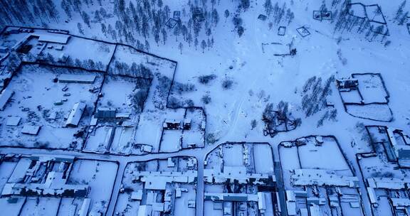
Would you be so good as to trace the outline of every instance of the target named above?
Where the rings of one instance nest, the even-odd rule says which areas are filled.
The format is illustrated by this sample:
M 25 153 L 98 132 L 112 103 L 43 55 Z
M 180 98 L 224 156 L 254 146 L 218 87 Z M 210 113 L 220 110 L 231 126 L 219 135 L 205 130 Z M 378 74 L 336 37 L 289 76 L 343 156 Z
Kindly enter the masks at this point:
M 233 144 L 235 145 L 235 144 Z M 236 147 L 242 144 L 237 144 Z M 272 172 L 259 171 L 258 164 L 250 164 L 253 160 L 252 150 L 255 146 L 263 144 L 243 144 L 243 166 L 232 166 L 230 156 L 223 156 L 221 167 L 215 166 L 214 154 L 206 157 L 204 169 L 204 202 L 211 203 L 212 210 L 205 209 L 205 214 L 214 215 L 279 215 L 278 193 L 276 193 L 276 178 L 273 167 L 267 168 Z M 263 151 L 269 150 L 268 146 Z M 222 145 L 222 149 L 230 148 L 228 144 Z M 248 150 L 246 150 L 248 149 Z M 213 152 L 219 151 L 216 148 Z M 258 151 L 258 150 L 255 150 Z M 268 151 L 266 151 L 268 153 Z M 267 154 L 269 155 L 269 153 Z M 264 155 L 261 155 L 263 157 Z M 266 158 L 268 159 L 268 158 Z M 273 165 L 273 164 L 272 164 Z M 224 185 L 224 190 L 207 189 L 215 185 Z M 240 189 L 242 188 L 242 189 Z M 246 189 L 248 188 L 248 189 Z M 207 205 L 207 204 L 205 204 Z

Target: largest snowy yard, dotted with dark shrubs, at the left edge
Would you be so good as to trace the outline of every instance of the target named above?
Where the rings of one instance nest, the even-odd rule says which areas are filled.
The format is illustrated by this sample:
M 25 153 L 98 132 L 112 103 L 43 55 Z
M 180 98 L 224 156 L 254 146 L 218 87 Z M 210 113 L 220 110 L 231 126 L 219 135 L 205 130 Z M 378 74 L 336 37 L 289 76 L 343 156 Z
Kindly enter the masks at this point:
M 62 74 L 95 75 L 92 84 L 53 82 Z M 23 66 L 6 88 L 14 92 L 11 101 L 0 112 L 2 121 L 9 117 L 21 117 L 17 126 L 1 124 L 1 145 L 42 148 L 80 149 L 83 137 L 73 135 L 90 122 L 95 107 L 102 75 L 82 70 Z M 65 127 L 66 119 L 75 103 L 85 103 L 85 111 L 78 127 Z M 23 126 L 41 126 L 38 135 L 21 134 Z

